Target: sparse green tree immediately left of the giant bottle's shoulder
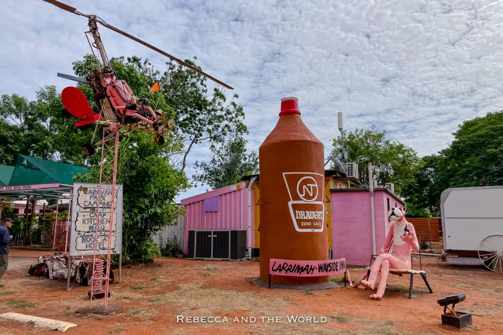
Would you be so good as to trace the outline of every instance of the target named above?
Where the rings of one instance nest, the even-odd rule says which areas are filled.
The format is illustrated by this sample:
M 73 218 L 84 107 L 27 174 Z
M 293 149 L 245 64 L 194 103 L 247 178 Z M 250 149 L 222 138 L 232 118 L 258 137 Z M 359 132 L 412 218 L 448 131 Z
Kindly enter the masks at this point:
M 201 172 L 192 178 L 216 189 L 238 183 L 245 175 L 258 173 L 259 156 L 254 151 L 246 153 L 246 144 L 242 136 L 234 136 L 218 147 L 212 146 L 210 161 L 195 162 Z

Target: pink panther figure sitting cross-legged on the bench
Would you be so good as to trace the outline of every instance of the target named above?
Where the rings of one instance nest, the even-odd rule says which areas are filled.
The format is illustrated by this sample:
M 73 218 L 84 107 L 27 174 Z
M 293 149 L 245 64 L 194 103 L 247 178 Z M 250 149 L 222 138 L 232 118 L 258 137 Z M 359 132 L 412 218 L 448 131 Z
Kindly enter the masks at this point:
M 386 282 L 388 280 L 389 269 L 410 270 L 412 268 L 410 254 L 411 251 L 419 251 L 419 242 L 415 235 L 414 226 L 405 219 L 405 211 L 407 208 L 391 208 L 388 212 L 388 219 L 393 221 L 389 229 L 388 236 L 384 242 L 384 246 L 377 256 L 368 280 L 364 280 L 365 276 L 354 287 L 360 284 L 373 290 L 377 280 L 377 273 L 380 271 L 381 276 L 379 279 L 379 286 L 377 292 L 372 294 L 372 299 L 381 299 L 386 289 Z M 391 248 L 391 254 L 389 249 Z

